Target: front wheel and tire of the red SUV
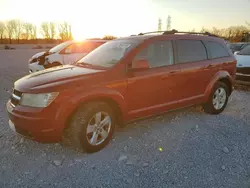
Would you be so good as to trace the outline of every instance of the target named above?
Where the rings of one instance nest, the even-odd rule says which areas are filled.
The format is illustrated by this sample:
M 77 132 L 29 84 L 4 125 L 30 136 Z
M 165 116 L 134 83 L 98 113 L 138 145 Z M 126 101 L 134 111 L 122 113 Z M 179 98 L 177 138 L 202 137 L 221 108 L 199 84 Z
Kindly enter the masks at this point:
M 103 126 L 101 123 L 99 123 L 99 127 L 93 126 L 98 124 L 99 119 L 100 122 L 104 122 L 105 119 Z M 94 129 L 97 130 L 96 134 L 94 131 L 91 132 Z M 90 133 L 87 134 L 87 130 Z M 76 149 L 93 153 L 103 149 L 110 142 L 114 130 L 115 116 L 109 105 L 104 102 L 91 102 L 76 110 L 69 127 L 64 131 L 63 142 Z M 94 134 L 98 136 L 94 136 Z M 103 139 L 103 135 L 106 136 L 105 139 Z

